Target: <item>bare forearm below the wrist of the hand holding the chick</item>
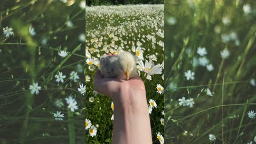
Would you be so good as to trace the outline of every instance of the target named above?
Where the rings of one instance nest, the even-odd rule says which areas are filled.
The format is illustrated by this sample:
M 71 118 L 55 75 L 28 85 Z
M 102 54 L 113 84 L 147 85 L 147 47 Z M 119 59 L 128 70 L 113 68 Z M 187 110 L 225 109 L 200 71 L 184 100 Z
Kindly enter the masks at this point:
M 152 143 L 146 94 L 129 94 L 124 103 L 114 102 L 113 144 Z

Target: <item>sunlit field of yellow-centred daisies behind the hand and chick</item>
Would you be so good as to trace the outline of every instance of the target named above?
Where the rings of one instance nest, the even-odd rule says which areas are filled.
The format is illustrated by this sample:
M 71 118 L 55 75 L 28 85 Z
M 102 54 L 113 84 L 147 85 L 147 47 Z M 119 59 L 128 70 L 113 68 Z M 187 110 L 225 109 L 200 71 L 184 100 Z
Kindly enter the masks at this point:
M 154 143 L 164 130 L 164 5 L 86 7 L 86 109 L 88 143 L 111 143 L 114 103 L 93 90 L 99 59 L 107 53 L 131 52 L 146 85 Z

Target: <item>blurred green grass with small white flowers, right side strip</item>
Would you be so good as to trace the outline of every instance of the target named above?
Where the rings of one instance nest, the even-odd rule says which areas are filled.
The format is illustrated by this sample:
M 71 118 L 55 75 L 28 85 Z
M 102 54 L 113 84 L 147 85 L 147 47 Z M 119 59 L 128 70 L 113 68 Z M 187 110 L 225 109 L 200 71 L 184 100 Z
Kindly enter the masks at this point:
M 165 1 L 166 143 L 256 143 L 255 1 Z

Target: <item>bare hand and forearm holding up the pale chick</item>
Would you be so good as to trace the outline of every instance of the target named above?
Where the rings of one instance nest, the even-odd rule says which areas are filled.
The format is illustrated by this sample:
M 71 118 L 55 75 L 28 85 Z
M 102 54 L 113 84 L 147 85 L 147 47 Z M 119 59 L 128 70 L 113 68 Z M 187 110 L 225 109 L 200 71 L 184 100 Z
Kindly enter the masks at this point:
M 94 90 L 114 102 L 113 144 L 152 143 L 146 90 L 139 76 L 128 81 L 102 78 L 97 70 Z

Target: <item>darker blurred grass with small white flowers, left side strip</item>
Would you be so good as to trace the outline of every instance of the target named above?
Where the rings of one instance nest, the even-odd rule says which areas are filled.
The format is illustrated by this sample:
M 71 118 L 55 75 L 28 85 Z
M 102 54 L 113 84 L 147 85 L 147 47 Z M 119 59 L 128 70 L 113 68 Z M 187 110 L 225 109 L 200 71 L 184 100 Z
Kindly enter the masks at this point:
M 85 1 L 1 1 L 0 143 L 84 143 Z

